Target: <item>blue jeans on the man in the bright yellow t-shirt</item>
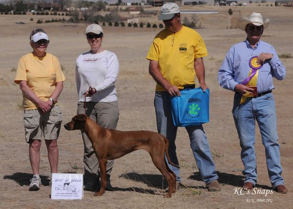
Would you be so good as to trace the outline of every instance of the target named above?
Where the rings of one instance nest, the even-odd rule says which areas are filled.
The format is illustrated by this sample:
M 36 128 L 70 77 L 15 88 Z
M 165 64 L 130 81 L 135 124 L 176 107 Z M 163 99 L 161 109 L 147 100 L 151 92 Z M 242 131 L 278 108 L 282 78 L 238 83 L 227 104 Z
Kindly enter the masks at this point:
M 175 139 L 177 126 L 174 126 L 171 112 L 171 102 L 168 92 L 156 92 L 154 105 L 156 110 L 158 132 L 169 140 L 168 154 L 173 164 L 179 165 L 176 155 Z M 206 184 L 218 179 L 215 165 L 209 150 L 209 142 L 202 125 L 188 126 L 190 147 L 193 152 L 201 177 Z M 167 162 L 168 164 L 168 162 Z M 180 169 L 169 165 L 169 168 L 176 174 L 176 180 L 181 182 Z

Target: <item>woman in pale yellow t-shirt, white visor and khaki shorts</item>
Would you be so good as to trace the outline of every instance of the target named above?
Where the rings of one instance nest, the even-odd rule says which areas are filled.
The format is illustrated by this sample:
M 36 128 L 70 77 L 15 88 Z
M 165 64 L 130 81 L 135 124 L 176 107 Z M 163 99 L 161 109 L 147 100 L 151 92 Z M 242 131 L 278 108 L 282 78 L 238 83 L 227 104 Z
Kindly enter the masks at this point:
M 49 38 L 42 28 L 31 32 L 33 52 L 21 57 L 14 82 L 20 84 L 23 97 L 23 124 L 29 144 L 29 158 L 33 170 L 29 190 L 39 190 L 41 183 L 40 148 L 42 138 L 48 150 L 51 173 L 57 173 L 59 136 L 62 113 L 57 103 L 65 77 L 58 59 L 46 53 Z

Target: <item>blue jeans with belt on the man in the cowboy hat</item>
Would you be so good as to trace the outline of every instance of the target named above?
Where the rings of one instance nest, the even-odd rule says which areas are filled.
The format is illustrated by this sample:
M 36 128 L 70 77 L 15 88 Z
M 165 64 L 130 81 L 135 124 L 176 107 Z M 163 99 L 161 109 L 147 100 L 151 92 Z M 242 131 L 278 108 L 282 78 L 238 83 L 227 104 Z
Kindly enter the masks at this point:
M 233 117 L 240 139 L 241 159 L 244 164 L 244 182 L 257 182 L 255 143 L 255 120 L 265 146 L 267 168 L 272 187 L 284 184 L 281 177 L 280 146 L 277 136 L 275 103 L 272 93 L 256 98 L 247 98 L 239 104 L 241 95 L 234 96 Z

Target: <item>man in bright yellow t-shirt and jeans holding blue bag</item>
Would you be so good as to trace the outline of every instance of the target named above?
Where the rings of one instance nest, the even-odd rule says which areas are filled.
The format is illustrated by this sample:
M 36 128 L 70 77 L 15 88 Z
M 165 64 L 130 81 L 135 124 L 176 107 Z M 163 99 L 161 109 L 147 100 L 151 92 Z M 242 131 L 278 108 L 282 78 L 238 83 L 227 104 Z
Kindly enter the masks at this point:
M 175 146 L 177 126 L 174 126 L 172 121 L 170 96 L 180 96 L 180 90 L 184 89 L 184 86 L 191 85 L 194 88 L 195 76 L 203 91 L 208 88 L 202 59 L 208 52 L 200 35 L 181 24 L 180 10 L 176 3 L 164 4 L 159 20 L 163 20 L 166 29 L 154 38 L 146 59 L 149 60 L 149 73 L 157 82 L 154 105 L 158 132 L 169 140 L 170 160 L 178 165 Z M 209 191 L 220 191 L 203 126 L 188 126 L 186 129 L 202 179 Z M 180 183 L 182 179 L 179 168 L 171 165 L 169 167 L 176 174 L 177 183 Z

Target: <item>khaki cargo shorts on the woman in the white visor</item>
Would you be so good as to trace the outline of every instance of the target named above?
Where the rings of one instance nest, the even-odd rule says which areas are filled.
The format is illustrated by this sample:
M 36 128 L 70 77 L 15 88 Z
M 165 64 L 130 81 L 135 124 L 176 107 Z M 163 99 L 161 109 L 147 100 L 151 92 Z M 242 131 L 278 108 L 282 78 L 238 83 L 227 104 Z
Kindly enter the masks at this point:
M 24 110 L 23 125 L 25 141 L 58 139 L 62 123 L 62 113 L 58 105 L 44 114 L 38 109 Z

